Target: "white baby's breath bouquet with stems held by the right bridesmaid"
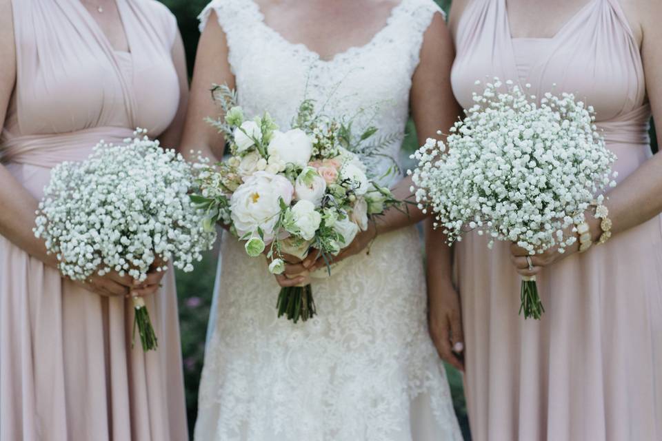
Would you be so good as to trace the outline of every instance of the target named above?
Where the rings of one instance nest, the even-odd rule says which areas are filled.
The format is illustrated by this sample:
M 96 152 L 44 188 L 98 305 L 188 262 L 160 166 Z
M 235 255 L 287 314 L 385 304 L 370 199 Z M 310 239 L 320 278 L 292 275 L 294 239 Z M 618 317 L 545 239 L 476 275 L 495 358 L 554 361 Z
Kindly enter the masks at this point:
M 477 84 L 480 84 L 477 81 Z M 449 243 L 468 229 L 508 240 L 531 255 L 576 241 L 595 195 L 612 181 L 616 156 L 594 125 L 594 110 L 572 94 L 546 93 L 540 104 L 512 81 L 485 86 L 447 146 L 429 139 L 412 158 L 419 207 L 429 206 Z M 602 198 L 603 196 L 599 196 Z M 520 314 L 544 312 L 535 277 L 523 278 Z

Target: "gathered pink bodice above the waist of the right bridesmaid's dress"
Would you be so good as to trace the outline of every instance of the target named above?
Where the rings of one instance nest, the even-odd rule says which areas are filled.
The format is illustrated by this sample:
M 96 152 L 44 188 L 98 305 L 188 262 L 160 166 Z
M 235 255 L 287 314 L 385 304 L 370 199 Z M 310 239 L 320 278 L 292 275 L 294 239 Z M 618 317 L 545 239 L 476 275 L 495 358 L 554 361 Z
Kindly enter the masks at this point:
M 612 1 L 585 3 L 548 38 L 512 37 L 505 0 L 473 3 L 457 32 L 452 87 L 458 101 L 469 107 L 475 81 L 499 76 L 530 84 L 536 96 L 573 93 L 595 107 L 597 121 L 639 107 L 645 101 L 641 55 Z

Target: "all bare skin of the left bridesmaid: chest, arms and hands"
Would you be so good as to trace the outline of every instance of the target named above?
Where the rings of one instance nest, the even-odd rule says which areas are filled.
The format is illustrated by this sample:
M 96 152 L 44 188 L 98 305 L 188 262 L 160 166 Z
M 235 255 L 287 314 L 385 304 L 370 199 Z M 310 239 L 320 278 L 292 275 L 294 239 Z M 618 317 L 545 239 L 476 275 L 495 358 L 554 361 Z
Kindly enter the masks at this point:
M 130 50 L 114 0 L 95 0 L 94 4 L 82 4 L 99 23 L 115 49 Z M 103 14 L 97 11 L 99 6 L 103 8 Z M 186 62 L 181 37 L 177 37 L 172 57 L 179 74 L 181 100 L 177 116 L 161 136 L 160 141 L 163 145 L 179 144 L 188 101 Z M 3 61 L 0 69 L 0 121 L 5 121 L 16 83 L 16 48 L 10 0 L 0 0 L 0 59 Z M 0 165 L 0 234 L 30 256 L 41 260 L 49 267 L 56 268 L 57 261 L 54 256 L 46 254 L 43 240 L 35 238 L 32 233 L 34 212 L 38 203 L 39 201 L 8 172 L 6 167 Z M 163 272 L 154 271 L 143 283 L 137 283 L 128 276 L 121 277 L 117 273 L 110 273 L 103 277 L 92 276 L 88 282 L 77 282 L 77 284 L 101 296 L 148 296 L 159 289 L 162 278 Z

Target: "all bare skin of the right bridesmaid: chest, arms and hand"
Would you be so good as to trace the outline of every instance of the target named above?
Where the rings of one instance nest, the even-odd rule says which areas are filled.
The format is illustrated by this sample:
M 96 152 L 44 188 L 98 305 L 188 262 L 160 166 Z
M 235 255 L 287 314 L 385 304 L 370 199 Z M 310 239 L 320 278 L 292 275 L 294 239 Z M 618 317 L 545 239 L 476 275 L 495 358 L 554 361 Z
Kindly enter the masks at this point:
M 594 1 L 594 0 L 588 0 Z M 554 2 L 544 0 L 508 0 L 508 17 L 513 37 L 551 37 L 587 0 L 559 0 Z M 450 14 L 451 32 L 457 32 L 457 22 L 468 0 L 453 1 Z M 653 119 L 658 127 L 662 127 L 662 28 L 659 17 L 662 17 L 662 2 L 658 0 L 619 0 L 625 17 L 630 23 L 634 38 L 639 44 L 645 73 L 646 90 L 650 101 Z M 540 17 L 545 17 L 541 21 Z M 658 132 L 658 144 L 662 143 L 662 132 Z M 650 220 L 662 212 L 662 155 L 656 154 L 644 163 L 638 170 L 625 178 L 609 194 L 605 205 L 612 219 L 612 234 L 619 234 L 632 227 Z M 600 222 L 594 218 L 593 210 L 586 213 L 593 240 L 601 234 Z M 573 234 L 568 231 L 567 234 Z M 533 276 L 545 267 L 579 252 L 579 243 L 567 248 L 561 254 L 556 249 L 549 249 L 543 254 L 531 256 L 534 268 L 529 269 L 526 259 L 527 252 L 521 247 L 512 245 L 511 260 L 519 274 Z M 587 251 L 591 252 L 591 249 Z

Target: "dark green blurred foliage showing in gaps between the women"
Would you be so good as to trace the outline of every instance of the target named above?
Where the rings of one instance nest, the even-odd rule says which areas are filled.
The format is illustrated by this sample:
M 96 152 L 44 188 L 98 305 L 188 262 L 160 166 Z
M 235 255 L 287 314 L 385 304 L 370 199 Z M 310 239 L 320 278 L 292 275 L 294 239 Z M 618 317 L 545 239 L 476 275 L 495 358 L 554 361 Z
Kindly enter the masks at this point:
M 189 72 L 192 72 L 199 39 L 197 15 L 208 3 L 208 0 L 161 1 L 177 16 L 179 29 L 181 30 L 186 49 Z M 437 0 L 437 3 L 444 10 L 448 11 L 450 0 Z M 411 121 L 407 129 L 408 136 L 403 145 L 405 155 L 418 147 L 416 130 Z M 652 129 L 652 135 L 652 140 L 655 140 L 654 129 Z M 656 150 L 657 147 L 654 145 L 654 151 Z M 197 391 L 203 365 L 205 335 L 212 306 L 212 291 L 214 289 L 214 278 L 217 270 L 217 254 L 217 250 L 208 253 L 194 272 L 190 274 L 177 274 L 179 315 L 181 319 L 181 345 L 183 350 L 184 380 L 190 431 L 193 429 L 197 416 Z M 461 374 L 450 366 L 447 366 L 446 370 L 452 389 L 455 411 L 460 420 L 465 439 L 470 440 Z

